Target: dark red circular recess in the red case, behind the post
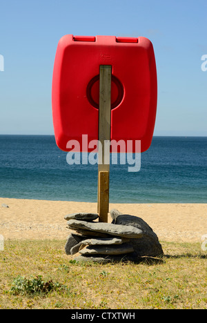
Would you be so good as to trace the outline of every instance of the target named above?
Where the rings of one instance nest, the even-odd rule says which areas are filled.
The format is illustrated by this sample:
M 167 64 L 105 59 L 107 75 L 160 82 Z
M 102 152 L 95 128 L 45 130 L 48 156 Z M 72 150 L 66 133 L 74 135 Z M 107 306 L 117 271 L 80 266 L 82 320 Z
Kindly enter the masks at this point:
M 99 109 L 99 75 L 93 77 L 88 83 L 86 95 L 92 106 Z M 124 86 L 119 79 L 112 75 L 111 77 L 111 109 L 116 108 L 124 97 Z

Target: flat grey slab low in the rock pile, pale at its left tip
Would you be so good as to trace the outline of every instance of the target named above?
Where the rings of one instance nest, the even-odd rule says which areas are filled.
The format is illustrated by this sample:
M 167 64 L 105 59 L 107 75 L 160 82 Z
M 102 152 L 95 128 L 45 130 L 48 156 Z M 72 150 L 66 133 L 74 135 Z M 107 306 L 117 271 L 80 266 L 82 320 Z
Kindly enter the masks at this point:
M 121 244 L 117 246 L 86 246 L 81 249 L 81 255 L 125 255 L 132 253 L 134 248 L 129 244 Z

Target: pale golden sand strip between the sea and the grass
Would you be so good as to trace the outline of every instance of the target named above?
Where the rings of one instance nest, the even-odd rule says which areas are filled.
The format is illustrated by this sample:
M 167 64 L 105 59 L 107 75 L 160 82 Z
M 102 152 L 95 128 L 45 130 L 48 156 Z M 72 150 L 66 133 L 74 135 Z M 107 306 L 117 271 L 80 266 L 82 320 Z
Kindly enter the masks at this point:
M 110 204 L 112 208 L 144 219 L 160 241 L 201 242 L 207 234 L 207 204 Z M 97 204 L 0 198 L 0 235 L 4 239 L 67 239 L 70 231 L 64 216 L 77 212 L 97 213 Z

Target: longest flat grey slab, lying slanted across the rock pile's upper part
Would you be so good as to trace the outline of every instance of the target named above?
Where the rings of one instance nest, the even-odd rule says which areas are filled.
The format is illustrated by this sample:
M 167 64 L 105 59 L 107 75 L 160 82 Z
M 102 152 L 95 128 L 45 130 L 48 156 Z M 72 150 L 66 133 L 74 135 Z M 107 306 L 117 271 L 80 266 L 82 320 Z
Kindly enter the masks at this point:
M 110 224 L 110 223 L 102 223 L 102 222 L 84 222 L 78 221 L 76 219 L 70 219 L 68 221 L 68 228 L 71 230 L 78 231 L 87 230 L 96 233 L 104 233 L 107 235 L 113 235 L 118 237 L 126 237 L 126 238 L 141 238 L 143 236 L 142 231 L 139 228 L 135 228 L 134 226 L 123 226 L 118 224 Z

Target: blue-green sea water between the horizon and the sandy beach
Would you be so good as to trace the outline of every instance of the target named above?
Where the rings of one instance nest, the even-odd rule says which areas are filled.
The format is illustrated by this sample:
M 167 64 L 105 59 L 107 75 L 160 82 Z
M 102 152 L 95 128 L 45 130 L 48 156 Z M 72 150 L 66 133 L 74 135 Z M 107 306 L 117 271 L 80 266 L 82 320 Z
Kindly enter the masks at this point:
M 97 202 L 97 165 L 66 155 L 54 136 L 0 135 L 0 197 Z M 207 137 L 154 137 L 128 166 L 110 166 L 110 203 L 207 202 Z

